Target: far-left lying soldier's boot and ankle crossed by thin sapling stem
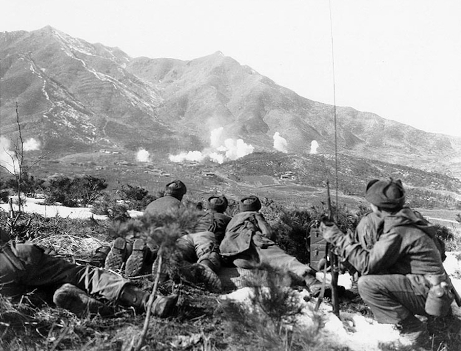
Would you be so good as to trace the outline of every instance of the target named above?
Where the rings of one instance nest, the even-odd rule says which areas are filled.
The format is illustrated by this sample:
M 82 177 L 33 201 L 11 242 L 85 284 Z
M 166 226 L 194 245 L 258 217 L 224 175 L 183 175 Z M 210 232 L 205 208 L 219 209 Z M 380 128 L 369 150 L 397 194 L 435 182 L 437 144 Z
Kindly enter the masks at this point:
M 145 312 L 150 293 L 145 292 L 133 285 L 127 284 L 123 287 L 118 303 L 125 307 L 134 307 L 139 312 Z M 173 313 L 178 301 L 178 295 L 169 296 L 157 295 L 152 303 L 151 313 L 157 317 L 167 317 Z

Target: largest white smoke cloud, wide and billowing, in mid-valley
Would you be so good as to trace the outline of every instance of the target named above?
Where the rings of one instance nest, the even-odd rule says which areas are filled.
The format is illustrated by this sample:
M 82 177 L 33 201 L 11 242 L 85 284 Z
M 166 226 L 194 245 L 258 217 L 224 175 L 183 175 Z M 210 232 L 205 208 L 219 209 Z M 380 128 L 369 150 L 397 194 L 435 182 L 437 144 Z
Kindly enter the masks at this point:
M 226 160 L 236 160 L 252 153 L 253 145 L 246 144 L 242 139 L 226 138 L 223 142 L 223 127 L 215 128 L 210 133 L 210 147 L 202 151 L 181 152 L 177 155 L 170 155 L 170 161 L 203 161 L 208 158 L 213 162 L 222 163 Z

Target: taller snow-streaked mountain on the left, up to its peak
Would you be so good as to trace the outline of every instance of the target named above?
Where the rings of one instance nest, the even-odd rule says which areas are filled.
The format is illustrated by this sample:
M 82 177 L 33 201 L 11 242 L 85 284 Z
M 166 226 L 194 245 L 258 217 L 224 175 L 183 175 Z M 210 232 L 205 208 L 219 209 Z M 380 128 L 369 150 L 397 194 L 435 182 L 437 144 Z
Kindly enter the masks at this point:
M 26 133 L 37 135 L 49 149 L 117 146 L 117 139 L 128 135 L 168 133 L 153 118 L 160 97 L 123 69 L 129 58 L 120 50 L 51 27 L 9 34 L 0 36 L 6 132 L 14 128 L 17 101 Z

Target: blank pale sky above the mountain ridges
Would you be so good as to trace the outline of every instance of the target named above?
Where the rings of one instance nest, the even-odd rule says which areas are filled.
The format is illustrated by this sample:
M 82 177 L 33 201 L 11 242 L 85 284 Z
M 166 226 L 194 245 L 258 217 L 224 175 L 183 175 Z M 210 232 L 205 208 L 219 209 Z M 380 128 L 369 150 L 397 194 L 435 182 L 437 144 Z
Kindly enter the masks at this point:
M 50 25 L 132 57 L 221 51 L 332 104 L 330 4 L 336 104 L 461 136 L 459 0 L 0 0 L 0 31 Z

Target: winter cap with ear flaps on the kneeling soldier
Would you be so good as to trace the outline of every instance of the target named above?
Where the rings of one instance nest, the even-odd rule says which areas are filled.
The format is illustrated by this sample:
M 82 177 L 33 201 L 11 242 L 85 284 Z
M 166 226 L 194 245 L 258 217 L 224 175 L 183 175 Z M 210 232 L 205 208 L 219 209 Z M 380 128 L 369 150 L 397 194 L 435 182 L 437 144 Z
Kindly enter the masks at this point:
M 399 210 L 405 204 L 402 181 L 373 179 L 367 184 L 365 199 L 384 210 Z

